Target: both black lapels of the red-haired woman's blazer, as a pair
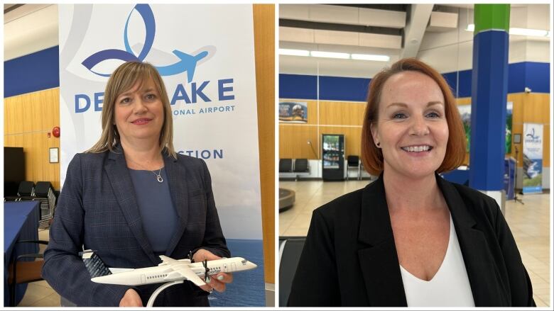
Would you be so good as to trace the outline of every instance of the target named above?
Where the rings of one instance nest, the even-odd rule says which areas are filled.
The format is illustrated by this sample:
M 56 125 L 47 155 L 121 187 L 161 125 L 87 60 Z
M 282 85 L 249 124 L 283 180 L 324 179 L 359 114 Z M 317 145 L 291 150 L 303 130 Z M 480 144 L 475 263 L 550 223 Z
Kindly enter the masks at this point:
M 505 288 L 485 234 L 455 186 L 438 174 L 436 180 L 452 215 L 475 305 L 506 305 Z M 359 249 L 358 256 L 370 304 L 407 306 L 382 174 L 364 189 L 360 218 L 358 239 L 368 247 Z

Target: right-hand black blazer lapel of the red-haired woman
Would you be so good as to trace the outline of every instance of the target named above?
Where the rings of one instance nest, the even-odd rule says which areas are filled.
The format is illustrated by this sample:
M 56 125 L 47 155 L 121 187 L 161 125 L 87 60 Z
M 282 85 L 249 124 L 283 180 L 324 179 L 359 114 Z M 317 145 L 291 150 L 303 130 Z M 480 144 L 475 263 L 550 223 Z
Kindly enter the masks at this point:
M 479 230 L 474 215 L 470 213 L 469 206 L 465 205 L 452 183 L 438 175 L 436 179 L 452 215 L 475 305 L 509 305 L 491 248 L 484 232 Z

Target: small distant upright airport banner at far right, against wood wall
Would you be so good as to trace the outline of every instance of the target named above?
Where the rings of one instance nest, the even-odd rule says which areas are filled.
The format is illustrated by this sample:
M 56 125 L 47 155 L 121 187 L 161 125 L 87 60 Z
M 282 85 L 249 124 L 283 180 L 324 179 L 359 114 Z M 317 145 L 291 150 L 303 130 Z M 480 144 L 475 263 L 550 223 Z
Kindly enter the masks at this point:
M 523 123 L 523 194 L 543 192 L 543 125 Z

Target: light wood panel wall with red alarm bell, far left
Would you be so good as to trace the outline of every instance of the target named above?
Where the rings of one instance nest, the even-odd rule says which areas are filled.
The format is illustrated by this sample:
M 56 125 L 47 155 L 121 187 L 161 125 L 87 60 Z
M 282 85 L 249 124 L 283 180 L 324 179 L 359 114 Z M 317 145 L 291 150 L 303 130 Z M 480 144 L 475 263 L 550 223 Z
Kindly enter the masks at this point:
M 55 126 L 60 126 L 60 89 L 4 98 L 4 146 L 23 147 L 26 180 L 50 181 L 60 189 L 60 163 L 49 157 L 50 147 L 60 148 L 60 138 L 48 137 Z

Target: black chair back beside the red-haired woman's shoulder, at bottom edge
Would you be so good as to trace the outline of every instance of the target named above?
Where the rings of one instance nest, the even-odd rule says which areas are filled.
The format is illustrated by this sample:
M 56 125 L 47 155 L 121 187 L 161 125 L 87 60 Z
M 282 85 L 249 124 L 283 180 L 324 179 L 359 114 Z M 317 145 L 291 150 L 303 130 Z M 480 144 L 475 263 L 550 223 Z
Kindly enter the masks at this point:
M 287 305 L 290 286 L 306 237 L 279 237 L 279 305 Z M 325 273 L 325 272 L 322 272 Z

